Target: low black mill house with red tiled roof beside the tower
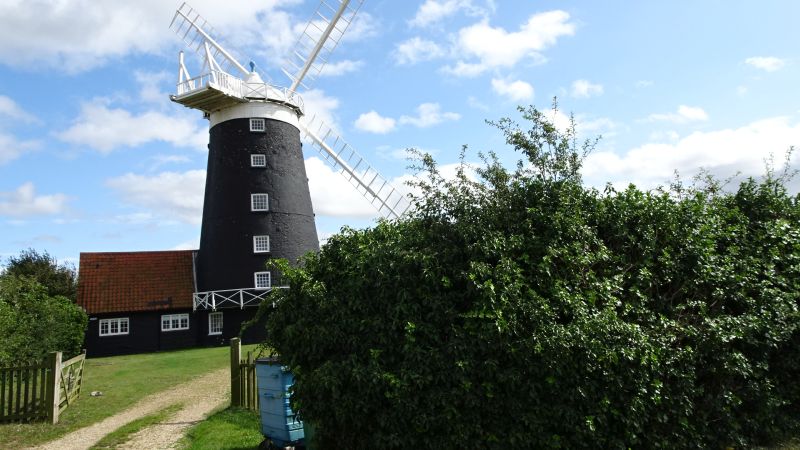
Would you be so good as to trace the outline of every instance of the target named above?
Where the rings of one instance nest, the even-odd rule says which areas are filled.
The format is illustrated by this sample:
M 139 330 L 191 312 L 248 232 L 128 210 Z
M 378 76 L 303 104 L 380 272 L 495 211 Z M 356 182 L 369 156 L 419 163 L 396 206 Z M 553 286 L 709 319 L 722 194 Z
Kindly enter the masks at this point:
M 196 254 L 196 250 L 81 253 L 78 304 L 89 315 L 87 354 L 222 345 L 237 337 L 257 303 L 195 309 Z M 263 338 L 263 325 L 247 331 L 247 342 Z

